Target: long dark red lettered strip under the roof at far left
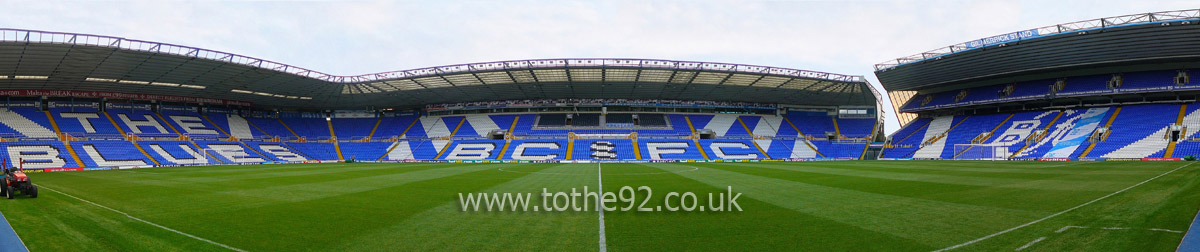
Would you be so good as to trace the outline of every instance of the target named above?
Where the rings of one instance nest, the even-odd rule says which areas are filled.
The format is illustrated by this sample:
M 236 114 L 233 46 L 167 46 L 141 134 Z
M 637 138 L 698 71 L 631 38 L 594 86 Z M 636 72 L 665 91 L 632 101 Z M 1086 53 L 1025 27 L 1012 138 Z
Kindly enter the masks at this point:
M 246 101 L 233 101 L 233 100 L 222 100 L 222 98 L 203 98 L 203 97 L 187 97 L 187 96 L 173 96 L 173 95 L 149 95 L 149 94 L 132 94 L 132 92 L 110 92 L 110 91 L 5 89 L 5 90 L 0 90 L 0 96 L 50 96 L 50 97 L 82 97 L 82 98 L 126 98 L 126 100 L 145 100 L 145 101 L 163 101 L 163 102 L 229 104 L 229 106 L 245 106 L 245 107 L 254 106 L 253 102 L 246 102 Z

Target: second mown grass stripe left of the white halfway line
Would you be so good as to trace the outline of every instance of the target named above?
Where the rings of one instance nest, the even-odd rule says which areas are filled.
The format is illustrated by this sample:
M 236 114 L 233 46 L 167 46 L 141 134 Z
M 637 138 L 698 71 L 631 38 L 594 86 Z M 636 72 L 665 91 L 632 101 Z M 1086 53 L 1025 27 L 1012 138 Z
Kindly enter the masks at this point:
M 214 236 L 254 244 L 252 247 L 246 247 L 252 251 L 325 250 L 328 246 L 344 242 L 353 235 L 386 228 L 415 214 L 454 202 L 457 192 L 481 191 L 526 175 L 499 172 L 496 169 L 498 166 L 492 164 L 466 167 L 472 169 L 460 169 L 462 173 L 452 175 L 438 174 L 442 176 L 437 178 L 407 179 L 409 181 L 391 179 L 395 184 L 384 187 L 361 186 L 361 184 L 353 187 L 355 184 L 344 184 L 343 186 L 352 187 L 331 192 L 335 194 L 330 196 L 236 211 L 178 216 L 178 218 L 212 222 L 205 224 L 205 228 L 212 232 L 228 229 L 259 232 L 247 236 L 238 234 Z M 317 191 L 324 190 L 330 188 Z M 253 221 L 247 222 L 247 220 Z M 404 236 L 420 239 L 421 234 Z M 260 238 L 286 239 L 260 240 Z

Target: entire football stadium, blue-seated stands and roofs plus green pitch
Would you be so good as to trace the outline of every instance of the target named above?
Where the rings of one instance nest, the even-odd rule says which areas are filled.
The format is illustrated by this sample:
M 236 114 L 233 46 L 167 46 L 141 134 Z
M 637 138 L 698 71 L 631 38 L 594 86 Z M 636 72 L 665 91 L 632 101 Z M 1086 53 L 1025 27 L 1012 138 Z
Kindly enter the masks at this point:
M 0 29 L 0 251 L 1200 251 L 1200 10 L 1045 25 L 878 83 Z

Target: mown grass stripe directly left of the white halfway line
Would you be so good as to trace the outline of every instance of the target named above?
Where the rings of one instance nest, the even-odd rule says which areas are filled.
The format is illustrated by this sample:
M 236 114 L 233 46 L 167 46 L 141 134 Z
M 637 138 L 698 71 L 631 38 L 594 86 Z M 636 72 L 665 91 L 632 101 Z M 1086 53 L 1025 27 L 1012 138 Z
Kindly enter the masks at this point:
M 540 167 L 536 167 L 540 166 Z M 360 251 L 388 247 L 396 251 L 594 251 L 596 248 L 596 212 L 462 211 L 457 193 L 541 193 L 570 191 L 571 187 L 595 190 L 595 164 L 523 164 L 510 167 L 526 172 L 520 178 L 488 188 L 456 193 L 455 202 L 413 215 L 385 228 L 362 232 L 346 239 L 331 251 Z M 605 164 L 607 168 L 608 164 Z M 607 181 L 605 187 L 607 188 Z M 539 199 L 540 200 L 540 199 Z M 530 202 L 530 205 L 540 202 Z M 594 205 L 594 204 L 593 204 Z

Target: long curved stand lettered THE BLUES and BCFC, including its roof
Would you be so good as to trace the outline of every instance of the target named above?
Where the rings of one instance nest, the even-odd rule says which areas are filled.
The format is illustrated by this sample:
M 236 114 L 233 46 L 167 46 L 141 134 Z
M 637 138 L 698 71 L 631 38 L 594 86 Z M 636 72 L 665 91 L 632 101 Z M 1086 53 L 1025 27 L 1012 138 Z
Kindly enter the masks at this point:
M 781 67 L 548 59 L 332 76 L 12 29 L 0 55 L 0 157 L 26 169 L 857 160 L 882 139 L 863 77 Z

